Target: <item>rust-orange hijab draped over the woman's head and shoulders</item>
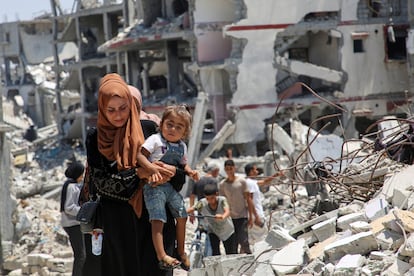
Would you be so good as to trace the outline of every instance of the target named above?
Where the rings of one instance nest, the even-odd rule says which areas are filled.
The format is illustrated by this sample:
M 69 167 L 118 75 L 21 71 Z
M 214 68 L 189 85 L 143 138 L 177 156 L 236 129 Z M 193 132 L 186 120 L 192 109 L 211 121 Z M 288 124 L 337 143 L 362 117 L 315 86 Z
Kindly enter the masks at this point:
M 120 128 L 113 126 L 104 112 L 112 97 L 124 98 L 129 105 L 129 119 Z M 140 104 L 132 97 L 120 75 L 109 73 L 101 79 L 98 94 L 98 149 L 106 159 L 117 162 L 118 170 L 138 166 L 138 151 L 144 142 L 139 110 Z

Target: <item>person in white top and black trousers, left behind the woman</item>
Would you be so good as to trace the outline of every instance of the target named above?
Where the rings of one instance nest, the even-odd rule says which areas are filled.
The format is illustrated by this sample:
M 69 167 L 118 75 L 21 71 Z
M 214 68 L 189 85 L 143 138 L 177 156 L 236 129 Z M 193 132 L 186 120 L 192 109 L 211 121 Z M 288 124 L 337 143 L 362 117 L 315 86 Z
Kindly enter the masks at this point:
M 83 172 L 85 167 L 80 162 L 72 162 L 65 171 L 67 180 L 62 186 L 60 197 L 61 225 L 69 236 L 73 250 L 72 275 L 81 276 L 86 258 L 85 243 L 80 230 L 80 223 L 76 220 L 79 212 L 79 194 L 82 188 Z

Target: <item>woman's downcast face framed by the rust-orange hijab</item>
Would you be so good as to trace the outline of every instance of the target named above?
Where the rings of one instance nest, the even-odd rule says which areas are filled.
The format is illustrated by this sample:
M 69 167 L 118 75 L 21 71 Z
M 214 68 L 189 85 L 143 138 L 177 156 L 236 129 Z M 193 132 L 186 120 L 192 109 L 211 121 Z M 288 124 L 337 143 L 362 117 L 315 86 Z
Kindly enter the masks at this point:
M 128 101 L 121 97 L 111 97 L 104 110 L 108 121 L 115 127 L 122 127 L 129 118 L 130 108 Z

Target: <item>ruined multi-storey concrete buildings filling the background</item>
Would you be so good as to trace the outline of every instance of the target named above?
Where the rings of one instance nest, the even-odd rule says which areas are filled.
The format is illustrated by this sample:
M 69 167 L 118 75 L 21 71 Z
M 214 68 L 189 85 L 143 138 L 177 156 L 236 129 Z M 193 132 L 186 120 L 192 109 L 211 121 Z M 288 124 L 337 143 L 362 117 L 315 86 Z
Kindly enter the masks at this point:
M 269 122 L 288 128 L 290 118 L 309 125 L 339 113 L 317 125 L 358 137 L 384 115 L 407 117 L 412 1 L 74 3 L 70 14 L 53 5 L 49 16 L 0 25 L 3 95 L 20 95 L 16 105 L 39 127 L 56 115 L 68 138 L 94 124 L 99 79 L 114 71 L 141 89 L 147 112 L 175 102 L 195 108 L 205 93 L 194 159 L 228 121 L 224 143 L 254 155 L 268 150 Z M 39 64 L 53 66 L 55 86 L 39 85 L 30 67 Z

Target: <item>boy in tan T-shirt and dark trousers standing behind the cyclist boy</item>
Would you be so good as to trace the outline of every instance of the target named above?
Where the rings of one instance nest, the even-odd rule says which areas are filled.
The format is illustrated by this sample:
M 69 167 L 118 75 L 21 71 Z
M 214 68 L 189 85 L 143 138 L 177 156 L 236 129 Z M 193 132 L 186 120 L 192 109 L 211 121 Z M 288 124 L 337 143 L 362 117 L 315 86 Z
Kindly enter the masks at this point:
M 227 178 L 219 184 L 219 194 L 225 196 L 230 205 L 230 215 L 235 230 L 235 246 L 240 245 L 240 253 L 251 254 L 248 227 L 253 225 L 253 203 L 244 177 L 236 176 L 234 161 L 224 162 Z

